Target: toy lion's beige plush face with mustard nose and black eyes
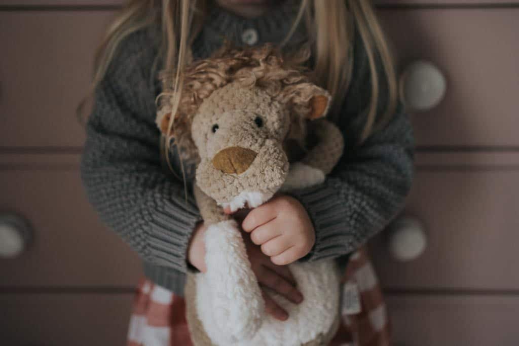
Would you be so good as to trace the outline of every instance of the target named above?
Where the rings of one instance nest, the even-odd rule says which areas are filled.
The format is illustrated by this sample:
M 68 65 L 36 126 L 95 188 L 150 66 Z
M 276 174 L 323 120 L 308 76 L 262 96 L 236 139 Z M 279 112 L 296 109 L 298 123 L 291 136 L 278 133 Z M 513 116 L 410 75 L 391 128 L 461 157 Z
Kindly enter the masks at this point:
M 215 90 L 192 124 L 197 185 L 231 211 L 262 204 L 288 173 L 282 142 L 289 124 L 289 109 L 260 88 L 231 83 Z

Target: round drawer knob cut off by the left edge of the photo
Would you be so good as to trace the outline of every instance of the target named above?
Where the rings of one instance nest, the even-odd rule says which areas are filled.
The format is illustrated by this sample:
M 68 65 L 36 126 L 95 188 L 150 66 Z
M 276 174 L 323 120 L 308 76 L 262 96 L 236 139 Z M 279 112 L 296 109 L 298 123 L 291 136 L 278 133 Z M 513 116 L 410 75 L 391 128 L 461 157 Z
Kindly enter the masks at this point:
M 0 257 L 19 256 L 30 239 L 30 227 L 24 218 L 16 214 L 0 213 Z

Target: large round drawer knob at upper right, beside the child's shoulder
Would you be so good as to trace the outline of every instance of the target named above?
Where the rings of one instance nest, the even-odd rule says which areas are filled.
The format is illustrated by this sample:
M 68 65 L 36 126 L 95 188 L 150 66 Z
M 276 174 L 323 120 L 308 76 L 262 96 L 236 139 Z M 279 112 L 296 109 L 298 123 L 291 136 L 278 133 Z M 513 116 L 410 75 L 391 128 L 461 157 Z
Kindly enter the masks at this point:
M 409 110 L 423 112 L 437 106 L 445 95 L 445 76 L 430 62 L 415 61 L 400 77 L 400 95 Z

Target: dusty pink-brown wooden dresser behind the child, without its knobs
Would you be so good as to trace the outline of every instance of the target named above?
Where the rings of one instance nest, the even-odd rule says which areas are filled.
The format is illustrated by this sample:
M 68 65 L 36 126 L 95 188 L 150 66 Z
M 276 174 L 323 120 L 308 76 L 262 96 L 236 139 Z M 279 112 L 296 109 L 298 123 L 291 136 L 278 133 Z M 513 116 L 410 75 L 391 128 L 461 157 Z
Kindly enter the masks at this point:
M 327 1 L 327 0 L 323 0 Z M 139 259 L 88 204 L 75 107 L 117 0 L 0 0 L 0 212 L 33 240 L 0 259 L 2 345 L 122 345 Z M 423 254 L 372 242 L 397 344 L 519 344 L 519 1 L 387 0 L 399 69 L 430 62 L 443 100 L 411 117 L 416 179 L 403 217 Z

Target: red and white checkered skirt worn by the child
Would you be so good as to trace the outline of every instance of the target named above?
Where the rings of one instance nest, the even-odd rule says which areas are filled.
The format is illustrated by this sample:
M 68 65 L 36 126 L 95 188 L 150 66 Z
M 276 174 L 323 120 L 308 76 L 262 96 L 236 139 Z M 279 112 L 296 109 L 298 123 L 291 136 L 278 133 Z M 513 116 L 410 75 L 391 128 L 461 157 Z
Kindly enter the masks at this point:
M 390 345 L 390 325 L 377 276 L 365 248 L 350 257 L 342 278 L 344 293 L 357 291 L 360 312 L 342 299 L 341 323 L 331 346 Z M 353 302 L 355 304 L 355 302 Z M 350 305 L 350 306 L 348 306 Z M 128 346 L 192 346 L 186 303 L 161 286 L 142 279 L 135 295 L 128 329 Z

